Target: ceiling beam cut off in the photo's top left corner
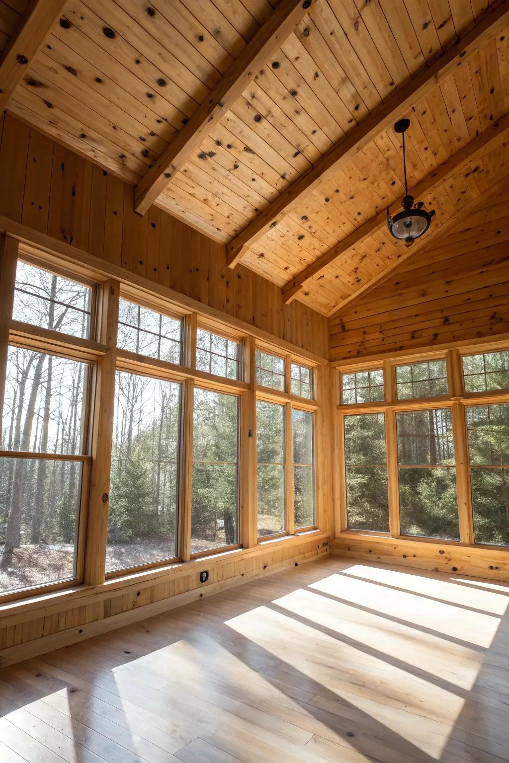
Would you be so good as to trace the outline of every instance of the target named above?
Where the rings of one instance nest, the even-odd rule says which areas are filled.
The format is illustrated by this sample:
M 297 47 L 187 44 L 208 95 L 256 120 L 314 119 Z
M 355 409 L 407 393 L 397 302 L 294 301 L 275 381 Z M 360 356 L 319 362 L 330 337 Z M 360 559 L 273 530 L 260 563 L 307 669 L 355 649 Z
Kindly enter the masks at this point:
M 13 34 L 0 60 L 0 113 L 24 72 L 34 63 L 65 4 L 66 0 L 34 0 L 27 9 L 18 33 Z

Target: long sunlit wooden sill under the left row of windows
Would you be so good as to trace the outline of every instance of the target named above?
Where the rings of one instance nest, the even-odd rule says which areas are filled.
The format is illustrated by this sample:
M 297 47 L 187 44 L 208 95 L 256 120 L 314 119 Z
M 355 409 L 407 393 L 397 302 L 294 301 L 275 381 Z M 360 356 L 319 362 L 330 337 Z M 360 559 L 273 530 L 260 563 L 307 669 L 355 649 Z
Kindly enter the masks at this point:
M 95 586 L 75 585 L 63 591 L 53 591 L 52 593 L 35 595 L 23 600 L 9 601 L 5 604 L 0 604 L 0 628 L 25 622 L 28 619 L 36 620 L 38 617 L 47 617 L 75 607 L 82 607 L 86 604 L 94 604 L 97 601 L 106 600 L 120 594 L 128 594 L 154 584 L 166 583 L 171 579 L 201 571 L 205 565 L 211 568 L 224 562 L 238 561 L 239 559 L 263 554 L 268 548 L 298 546 L 299 543 L 306 540 L 328 541 L 329 538 L 328 533 L 325 533 L 323 530 L 308 530 L 295 536 L 284 536 L 275 538 L 272 541 L 259 542 L 252 549 L 240 548 L 220 551 L 218 553 L 211 553 L 209 556 L 191 559 L 189 562 L 174 562 L 163 567 L 131 572 L 119 577 L 110 578 L 104 583 Z

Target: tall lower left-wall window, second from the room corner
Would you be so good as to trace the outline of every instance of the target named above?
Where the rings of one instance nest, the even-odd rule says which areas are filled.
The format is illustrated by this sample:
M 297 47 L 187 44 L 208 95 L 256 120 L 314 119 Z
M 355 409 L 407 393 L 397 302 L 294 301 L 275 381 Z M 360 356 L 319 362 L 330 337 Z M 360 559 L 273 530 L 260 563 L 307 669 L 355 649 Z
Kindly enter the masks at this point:
M 285 406 L 256 401 L 258 535 L 286 530 Z

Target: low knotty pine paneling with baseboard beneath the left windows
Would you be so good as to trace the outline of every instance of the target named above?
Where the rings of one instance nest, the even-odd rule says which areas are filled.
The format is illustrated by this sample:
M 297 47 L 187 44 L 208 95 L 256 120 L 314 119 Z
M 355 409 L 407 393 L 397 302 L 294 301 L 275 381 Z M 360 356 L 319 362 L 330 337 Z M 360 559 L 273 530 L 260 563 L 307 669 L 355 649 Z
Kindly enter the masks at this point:
M 151 581 L 139 581 L 137 586 L 126 584 L 124 589 L 96 592 L 80 600 L 79 605 L 75 602 L 72 606 L 72 601 L 61 604 L 60 611 L 58 605 L 48 602 L 46 607 L 41 604 L 42 611 L 38 613 L 6 614 L 0 617 L 0 668 L 318 559 L 329 551 L 324 538 L 324 535 L 312 540 L 303 538 L 300 543 L 273 549 L 268 546 L 234 561 L 230 555 L 203 559 L 199 569 L 194 567 L 187 575 L 184 571 L 178 575 L 161 573 Z M 199 580 L 201 569 L 209 571 L 205 584 Z

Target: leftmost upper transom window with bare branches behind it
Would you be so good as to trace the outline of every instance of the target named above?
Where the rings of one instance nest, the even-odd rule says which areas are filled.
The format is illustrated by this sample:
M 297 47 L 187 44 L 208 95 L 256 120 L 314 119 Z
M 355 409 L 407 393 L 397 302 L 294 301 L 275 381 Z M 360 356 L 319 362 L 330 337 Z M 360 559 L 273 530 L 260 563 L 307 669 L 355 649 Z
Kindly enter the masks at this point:
M 18 260 L 12 317 L 26 324 L 90 336 L 92 289 Z

